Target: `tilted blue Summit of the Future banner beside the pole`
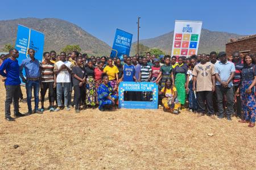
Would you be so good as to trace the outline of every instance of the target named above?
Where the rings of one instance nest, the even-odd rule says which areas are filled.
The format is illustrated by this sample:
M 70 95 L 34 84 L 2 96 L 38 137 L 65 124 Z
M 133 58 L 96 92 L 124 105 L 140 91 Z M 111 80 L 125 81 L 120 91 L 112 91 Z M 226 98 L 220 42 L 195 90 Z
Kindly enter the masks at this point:
M 119 57 L 122 59 L 123 54 L 127 54 L 129 56 L 131 39 L 133 39 L 133 35 L 131 33 L 117 29 L 110 57 Z

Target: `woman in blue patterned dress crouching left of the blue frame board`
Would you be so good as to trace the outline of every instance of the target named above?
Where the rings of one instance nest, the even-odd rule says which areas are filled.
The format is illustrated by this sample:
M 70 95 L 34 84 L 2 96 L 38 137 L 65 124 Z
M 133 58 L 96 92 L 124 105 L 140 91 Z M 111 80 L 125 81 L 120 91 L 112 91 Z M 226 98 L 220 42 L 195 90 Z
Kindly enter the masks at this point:
M 100 111 L 104 111 L 106 107 L 114 107 L 116 101 L 118 100 L 118 96 L 113 95 L 113 91 L 117 88 L 112 88 L 109 82 L 109 76 L 105 73 L 102 74 L 102 83 L 98 87 L 98 109 Z

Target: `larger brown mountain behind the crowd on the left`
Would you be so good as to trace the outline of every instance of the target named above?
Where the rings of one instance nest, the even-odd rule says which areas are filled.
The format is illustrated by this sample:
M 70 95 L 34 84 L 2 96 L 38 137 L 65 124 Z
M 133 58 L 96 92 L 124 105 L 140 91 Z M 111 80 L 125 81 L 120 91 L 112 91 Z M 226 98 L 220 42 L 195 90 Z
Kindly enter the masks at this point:
M 0 20 L 0 49 L 6 43 L 15 44 L 18 24 L 44 33 L 44 51 L 60 52 L 66 45 L 80 45 L 82 53 L 109 55 L 111 48 L 105 42 L 90 35 L 82 28 L 55 18 L 21 18 Z

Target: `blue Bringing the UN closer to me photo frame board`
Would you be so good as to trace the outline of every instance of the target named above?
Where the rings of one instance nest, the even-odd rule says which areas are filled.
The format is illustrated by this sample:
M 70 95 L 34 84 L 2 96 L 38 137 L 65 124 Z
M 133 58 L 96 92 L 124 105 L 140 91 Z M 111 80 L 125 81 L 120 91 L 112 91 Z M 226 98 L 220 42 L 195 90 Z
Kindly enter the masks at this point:
M 152 101 L 125 101 L 124 92 L 152 92 Z M 118 86 L 119 108 L 158 109 L 158 85 L 152 82 L 121 82 Z

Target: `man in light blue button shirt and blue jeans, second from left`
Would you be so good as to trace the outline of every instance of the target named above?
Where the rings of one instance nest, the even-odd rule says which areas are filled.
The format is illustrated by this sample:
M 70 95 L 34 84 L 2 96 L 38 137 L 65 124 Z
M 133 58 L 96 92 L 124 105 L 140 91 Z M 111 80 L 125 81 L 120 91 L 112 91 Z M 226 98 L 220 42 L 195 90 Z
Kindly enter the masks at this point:
M 35 97 L 35 113 L 43 113 L 38 110 L 39 104 L 39 90 L 40 90 L 40 63 L 38 59 L 35 59 L 35 50 L 28 49 L 28 55 L 30 58 L 23 59 L 22 64 L 20 65 L 20 78 L 22 82 L 26 83 L 27 90 L 27 107 L 28 114 L 32 114 L 31 107 L 31 98 L 32 98 L 32 88 L 34 88 L 34 97 Z M 26 78 L 22 74 L 23 68 L 25 69 Z

